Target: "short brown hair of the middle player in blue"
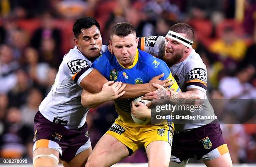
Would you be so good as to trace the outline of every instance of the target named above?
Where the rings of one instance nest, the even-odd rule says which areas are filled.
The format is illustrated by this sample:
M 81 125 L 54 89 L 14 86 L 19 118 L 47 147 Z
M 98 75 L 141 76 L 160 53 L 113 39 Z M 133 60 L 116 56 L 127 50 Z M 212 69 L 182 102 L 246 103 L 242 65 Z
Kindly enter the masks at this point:
M 134 34 L 136 36 L 136 31 L 133 25 L 130 23 L 117 23 L 110 32 L 110 38 L 114 34 L 122 37 L 125 37 L 129 34 Z

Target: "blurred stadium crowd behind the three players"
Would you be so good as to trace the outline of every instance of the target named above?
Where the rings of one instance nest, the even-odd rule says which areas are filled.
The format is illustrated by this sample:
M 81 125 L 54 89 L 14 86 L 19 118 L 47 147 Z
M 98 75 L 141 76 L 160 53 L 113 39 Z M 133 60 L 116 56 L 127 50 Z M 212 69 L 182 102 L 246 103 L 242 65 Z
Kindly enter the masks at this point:
M 33 117 L 64 54 L 74 48 L 74 21 L 84 16 L 100 23 L 105 45 L 118 22 L 131 23 L 138 37 L 165 36 L 179 22 L 191 25 L 193 48 L 207 66 L 208 98 L 248 99 L 245 107 L 235 105 L 230 111 L 212 101 L 216 112 L 233 119 L 221 124 L 231 158 L 234 163 L 256 163 L 256 119 L 235 121 L 248 113 L 255 118 L 249 99 L 256 99 L 256 0 L 1 0 L 0 158 L 32 162 Z M 113 102 L 90 109 L 92 146 L 116 117 Z M 147 158 L 140 149 L 123 162 Z

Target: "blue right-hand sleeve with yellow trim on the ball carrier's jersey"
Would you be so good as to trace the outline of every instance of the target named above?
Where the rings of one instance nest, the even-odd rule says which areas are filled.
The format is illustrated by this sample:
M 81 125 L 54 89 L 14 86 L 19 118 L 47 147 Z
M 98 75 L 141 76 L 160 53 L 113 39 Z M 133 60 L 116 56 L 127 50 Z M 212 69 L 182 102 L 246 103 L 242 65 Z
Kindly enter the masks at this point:
M 160 78 L 160 80 L 165 80 L 165 79 L 171 78 L 170 82 L 174 82 L 174 83 L 169 88 L 171 88 L 171 89 L 174 88 L 174 91 L 178 92 L 180 90 L 179 86 L 178 86 L 177 82 L 175 81 L 174 77 L 172 76 L 170 68 L 167 66 L 167 64 L 164 61 L 161 61 L 160 59 L 155 59 L 152 64 L 153 64 L 152 69 L 154 70 L 154 72 L 150 72 L 150 74 L 154 73 L 154 76 L 158 76 L 161 73 L 164 73 L 164 77 Z M 151 78 L 153 78 L 154 76 L 151 75 Z

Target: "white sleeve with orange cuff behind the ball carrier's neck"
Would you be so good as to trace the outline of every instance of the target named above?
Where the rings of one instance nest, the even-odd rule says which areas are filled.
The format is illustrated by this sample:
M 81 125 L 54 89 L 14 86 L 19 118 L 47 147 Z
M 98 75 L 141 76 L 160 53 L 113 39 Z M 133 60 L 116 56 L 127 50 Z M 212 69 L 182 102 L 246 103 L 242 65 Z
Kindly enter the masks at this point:
M 161 57 L 164 54 L 164 40 L 163 36 L 142 37 L 139 38 L 138 48 L 153 56 Z

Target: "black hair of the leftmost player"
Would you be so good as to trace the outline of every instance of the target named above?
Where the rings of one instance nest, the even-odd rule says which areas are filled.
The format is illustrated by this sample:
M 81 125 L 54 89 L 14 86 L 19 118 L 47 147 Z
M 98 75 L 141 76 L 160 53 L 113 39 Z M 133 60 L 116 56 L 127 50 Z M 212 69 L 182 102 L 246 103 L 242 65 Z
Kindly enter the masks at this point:
M 93 25 L 100 30 L 100 24 L 95 20 L 95 18 L 85 17 L 78 19 L 73 25 L 73 33 L 76 38 L 78 38 L 79 34 L 82 33 L 82 28 L 91 28 Z

